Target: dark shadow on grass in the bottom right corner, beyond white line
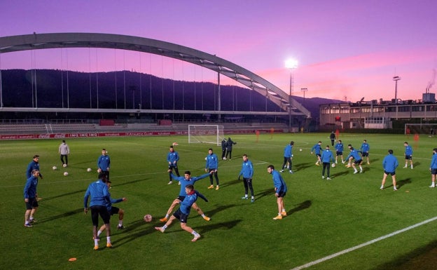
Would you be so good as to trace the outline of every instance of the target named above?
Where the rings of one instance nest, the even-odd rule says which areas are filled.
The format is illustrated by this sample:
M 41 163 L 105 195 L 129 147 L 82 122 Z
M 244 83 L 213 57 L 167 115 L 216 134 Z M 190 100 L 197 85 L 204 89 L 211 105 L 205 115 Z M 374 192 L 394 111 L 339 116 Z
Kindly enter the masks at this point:
M 375 270 L 436 269 L 437 241 L 403 254 L 391 262 L 375 266 Z

